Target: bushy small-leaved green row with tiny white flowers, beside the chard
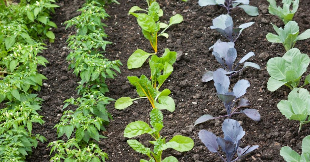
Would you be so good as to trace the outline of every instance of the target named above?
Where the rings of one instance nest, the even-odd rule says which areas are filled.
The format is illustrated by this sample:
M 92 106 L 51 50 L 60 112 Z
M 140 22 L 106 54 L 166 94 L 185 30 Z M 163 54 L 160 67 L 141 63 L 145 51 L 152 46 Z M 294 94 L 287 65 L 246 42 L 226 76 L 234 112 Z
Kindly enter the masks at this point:
M 60 122 L 55 125 L 58 138 L 66 136 L 68 139 L 50 142 L 50 155 L 54 162 L 70 161 L 105 161 L 108 158 L 98 142 L 102 138 L 101 131 L 105 131 L 112 119 L 111 114 L 105 108 L 113 99 L 106 97 L 108 86 L 106 79 L 114 79 L 116 72 L 120 73 L 119 60 L 110 61 L 105 58 L 107 34 L 104 33 L 102 20 L 109 17 L 104 10 L 104 5 L 112 1 L 87 0 L 81 9 L 81 15 L 66 21 L 66 28 L 74 26 L 76 34 L 69 36 L 68 48 L 70 50 L 67 60 L 69 69 L 81 78 L 77 87 L 80 97 L 64 101 L 66 109 Z M 117 2 L 117 1 L 113 1 Z M 76 107 L 76 108 L 74 108 Z

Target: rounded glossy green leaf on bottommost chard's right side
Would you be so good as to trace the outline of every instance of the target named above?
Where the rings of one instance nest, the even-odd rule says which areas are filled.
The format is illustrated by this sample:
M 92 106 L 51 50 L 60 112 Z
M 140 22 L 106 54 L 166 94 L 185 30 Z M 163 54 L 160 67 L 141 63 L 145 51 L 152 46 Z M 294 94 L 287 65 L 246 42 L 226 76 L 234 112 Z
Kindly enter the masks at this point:
M 194 147 L 194 141 L 191 138 L 182 135 L 174 136 L 169 142 L 179 143 L 178 147 L 172 147 L 179 152 L 190 151 Z

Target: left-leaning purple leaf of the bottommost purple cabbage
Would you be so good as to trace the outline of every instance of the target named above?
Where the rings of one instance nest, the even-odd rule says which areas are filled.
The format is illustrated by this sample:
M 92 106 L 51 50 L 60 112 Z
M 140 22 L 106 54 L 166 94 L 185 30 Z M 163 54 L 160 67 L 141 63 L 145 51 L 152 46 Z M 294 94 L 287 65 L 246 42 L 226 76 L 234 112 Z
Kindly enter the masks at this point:
M 213 133 L 203 129 L 199 131 L 198 137 L 201 142 L 206 145 L 209 151 L 217 152 L 219 144 L 216 142 L 217 137 Z

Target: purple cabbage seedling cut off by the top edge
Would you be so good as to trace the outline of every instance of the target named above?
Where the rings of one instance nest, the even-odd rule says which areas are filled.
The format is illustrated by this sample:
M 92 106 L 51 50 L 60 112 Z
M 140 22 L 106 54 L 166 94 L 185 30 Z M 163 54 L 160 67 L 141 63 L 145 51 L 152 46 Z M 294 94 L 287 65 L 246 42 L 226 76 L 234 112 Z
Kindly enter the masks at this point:
M 246 14 L 250 16 L 257 16 L 258 8 L 249 5 L 250 0 L 199 0 L 198 4 L 201 7 L 209 6 L 209 5 L 219 5 L 221 7 L 226 8 L 227 14 L 230 14 L 230 10 L 233 8 L 242 8 Z

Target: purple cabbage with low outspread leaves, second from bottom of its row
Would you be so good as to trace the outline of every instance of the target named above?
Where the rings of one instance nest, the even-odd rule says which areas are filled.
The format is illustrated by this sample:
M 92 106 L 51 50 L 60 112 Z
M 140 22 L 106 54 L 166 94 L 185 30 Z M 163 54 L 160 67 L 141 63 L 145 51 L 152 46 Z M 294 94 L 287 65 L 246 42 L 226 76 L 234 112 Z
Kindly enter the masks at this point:
M 217 96 L 224 103 L 226 108 L 227 115 L 213 117 L 209 114 L 199 117 L 194 125 L 204 123 L 208 120 L 218 119 L 223 117 L 230 118 L 234 114 L 245 114 L 254 121 L 260 120 L 259 112 L 255 109 L 244 109 L 240 112 L 237 112 L 242 107 L 249 107 L 250 103 L 247 99 L 241 98 L 239 104 L 236 106 L 237 99 L 246 94 L 246 89 L 250 87 L 250 83 L 247 80 L 239 80 L 232 89 L 232 92 L 228 91 L 229 88 L 229 78 L 221 70 L 216 70 L 213 73 L 214 86 L 216 88 Z

